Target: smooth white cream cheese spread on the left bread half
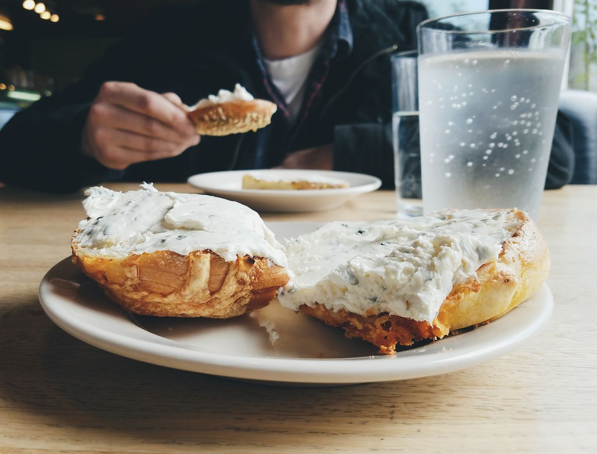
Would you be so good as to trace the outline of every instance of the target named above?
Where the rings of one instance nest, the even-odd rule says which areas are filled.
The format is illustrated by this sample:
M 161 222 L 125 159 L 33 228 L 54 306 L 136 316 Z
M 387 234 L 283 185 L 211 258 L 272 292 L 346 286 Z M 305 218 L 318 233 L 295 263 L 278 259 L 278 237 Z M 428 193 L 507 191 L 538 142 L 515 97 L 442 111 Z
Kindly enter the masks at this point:
M 126 257 L 173 251 L 187 255 L 209 249 L 226 261 L 264 257 L 286 267 L 282 246 L 252 209 L 201 194 L 142 190 L 115 192 L 92 187 L 83 206 L 88 220 L 73 240 L 86 255 Z

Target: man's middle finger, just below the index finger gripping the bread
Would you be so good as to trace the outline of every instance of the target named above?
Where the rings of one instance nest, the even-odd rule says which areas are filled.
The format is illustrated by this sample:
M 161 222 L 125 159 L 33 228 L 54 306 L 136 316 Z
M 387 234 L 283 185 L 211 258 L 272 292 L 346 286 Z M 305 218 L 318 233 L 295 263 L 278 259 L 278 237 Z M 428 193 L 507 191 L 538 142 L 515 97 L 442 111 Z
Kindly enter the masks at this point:
M 197 144 L 199 141 L 199 135 L 195 131 L 192 134 L 183 134 L 161 121 L 117 106 L 116 104 L 94 104 L 91 108 L 90 116 L 95 124 L 103 127 L 107 126 L 120 129 L 121 131 L 136 132 L 137 134 L 180 144 Z

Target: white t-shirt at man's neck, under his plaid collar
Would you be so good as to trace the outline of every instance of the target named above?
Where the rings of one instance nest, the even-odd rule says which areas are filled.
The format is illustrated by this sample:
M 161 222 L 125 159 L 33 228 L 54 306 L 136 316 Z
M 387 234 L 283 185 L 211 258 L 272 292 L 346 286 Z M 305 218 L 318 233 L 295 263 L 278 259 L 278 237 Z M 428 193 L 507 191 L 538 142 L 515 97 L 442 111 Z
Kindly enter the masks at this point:
M 311 50 L 293 57 L 269 60 L 264 58 L 267 71 L 273 84 L 281 92 L 288 104 L 290 122 L 294 123 L 303 106 L 304 92 L 307 88 L 307 77 L 319 53 L 321 44 Z

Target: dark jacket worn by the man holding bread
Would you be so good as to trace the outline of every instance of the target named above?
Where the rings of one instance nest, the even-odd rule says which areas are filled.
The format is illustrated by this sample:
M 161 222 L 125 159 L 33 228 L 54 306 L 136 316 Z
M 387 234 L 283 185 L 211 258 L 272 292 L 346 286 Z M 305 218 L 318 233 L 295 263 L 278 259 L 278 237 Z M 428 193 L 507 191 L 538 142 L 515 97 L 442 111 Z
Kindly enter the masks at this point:
M 251 42 L 248 2 L 204 2 L 148 21 L 107 52 L 81 82 L 14 116 L 0 131 L 0 181 L 52 192 L 106 180 L 184 181 L 201 172 L 254 168 L 256 162 L 276 166 L 294 150 L 334 143 L 335 169 L 377 175 L 391 187 L 390 52 L 416 48 L 416 25 L 427 13 L 409 1 L 347 0 L 346 5 L 352 48 L 325 67 L 309 115 L 294 128 L 276 114 L 272 125 L 257 132 L 202 137 L 180 156 L 125 171 L 81 155 L 81 131 L 105 81 L 176 92 L 186 104 L 236 82 L 256 97 L 271 98 Z M 334 20 L 337 16 L 338 11 Z M 567 183 L 572 166 L 569 144 L 561 142 L 553 150 L 561 167 L 553 187 Z

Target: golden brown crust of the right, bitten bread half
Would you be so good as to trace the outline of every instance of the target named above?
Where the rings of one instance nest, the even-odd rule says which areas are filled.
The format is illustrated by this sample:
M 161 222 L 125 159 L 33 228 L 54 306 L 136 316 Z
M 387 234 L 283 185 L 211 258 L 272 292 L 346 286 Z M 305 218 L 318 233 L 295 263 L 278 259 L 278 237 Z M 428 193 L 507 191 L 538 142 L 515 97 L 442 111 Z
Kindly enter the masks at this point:
M 503 243 L 498 260 L 479 267 L 476 279 L 454 286 L 433 324 L 388 313 L 361 316 L 346 310 L 334 312 L 319 303 L 301 305 L 300 309 L 328 325 L 341 326 L 349 338 L 371 342 L 383 354 L 395 353 L 396 344 L 412 345 L 491 322 L 531 297 L 549 273 L 545 240 L 524 212 L 516 215 L 523 222 Z

